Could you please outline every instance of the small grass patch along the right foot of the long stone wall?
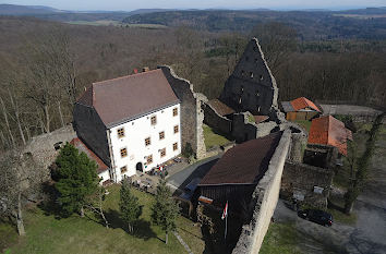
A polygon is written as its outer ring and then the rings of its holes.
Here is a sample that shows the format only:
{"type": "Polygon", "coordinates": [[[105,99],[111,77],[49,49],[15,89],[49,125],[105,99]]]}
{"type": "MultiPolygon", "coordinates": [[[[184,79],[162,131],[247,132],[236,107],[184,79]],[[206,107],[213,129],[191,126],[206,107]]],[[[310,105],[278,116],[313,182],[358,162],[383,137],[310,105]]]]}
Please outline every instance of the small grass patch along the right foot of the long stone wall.
{"type": "Polygon", "coordinates": [[[295,254],[298,233],[294,223],[270,223],[265,234],[260,254],[295,254]]]}

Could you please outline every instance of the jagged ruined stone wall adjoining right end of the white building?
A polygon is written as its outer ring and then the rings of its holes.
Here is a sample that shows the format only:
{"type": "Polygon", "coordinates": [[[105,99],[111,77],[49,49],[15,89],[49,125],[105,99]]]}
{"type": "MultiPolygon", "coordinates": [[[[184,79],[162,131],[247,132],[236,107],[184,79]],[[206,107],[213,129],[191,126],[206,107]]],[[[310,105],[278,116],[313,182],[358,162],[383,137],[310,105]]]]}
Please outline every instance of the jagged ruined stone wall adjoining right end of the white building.
{"type": "Polygon", "coordinates": [[[207,102],[207,98],[200,93],[194,93],[193,85],[176,75],[169,66],[159,66],[171,88],[181,101],[181,144],[182,149],[188,143],[192,145],[196,157],[205,157],[204,143],[204,109],[203,104],[207,102]]]}

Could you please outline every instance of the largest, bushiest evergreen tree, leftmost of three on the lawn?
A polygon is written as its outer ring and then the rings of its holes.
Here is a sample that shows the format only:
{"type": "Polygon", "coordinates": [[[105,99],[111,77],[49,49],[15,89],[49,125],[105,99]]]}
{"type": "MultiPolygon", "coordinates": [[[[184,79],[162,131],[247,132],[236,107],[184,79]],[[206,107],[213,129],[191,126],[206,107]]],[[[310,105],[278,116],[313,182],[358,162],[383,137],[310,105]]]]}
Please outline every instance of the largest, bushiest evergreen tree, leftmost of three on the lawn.
{"type": "Polygon", "coordinates": [[[97,165],[85,153],[67,143],[57,158],[55,188],[59,192],[59,204],[64,216],[80,211],[84,216],[86,197],[98,190],[97,165]]]}

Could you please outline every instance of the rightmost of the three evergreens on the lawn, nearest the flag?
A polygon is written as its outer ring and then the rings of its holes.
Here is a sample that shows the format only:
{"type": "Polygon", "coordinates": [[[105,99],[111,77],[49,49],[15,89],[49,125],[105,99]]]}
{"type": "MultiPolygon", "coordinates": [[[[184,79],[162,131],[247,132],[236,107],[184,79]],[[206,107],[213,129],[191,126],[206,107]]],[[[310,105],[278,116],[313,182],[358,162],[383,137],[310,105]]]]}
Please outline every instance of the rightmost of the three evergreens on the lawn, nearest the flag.
{"type": "Polygon", "coordinates": [[[157,186],[156,202],[152,207],[152,222],[165,230],[165,243],[168,244],[168,233],[176,229],[176,219],[179,207],[171,197],[171,191],[165,181],[160,181],[157,186]]]}

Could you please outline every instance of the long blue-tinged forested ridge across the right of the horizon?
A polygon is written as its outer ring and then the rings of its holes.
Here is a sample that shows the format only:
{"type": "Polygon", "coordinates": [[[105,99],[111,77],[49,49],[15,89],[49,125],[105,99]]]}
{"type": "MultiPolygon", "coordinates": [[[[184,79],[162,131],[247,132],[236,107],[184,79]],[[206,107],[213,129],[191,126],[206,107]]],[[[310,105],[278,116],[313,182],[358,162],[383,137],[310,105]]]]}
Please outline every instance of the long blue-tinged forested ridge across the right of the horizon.
{"type": "MultiPolygon", "coordinates": [[[[367,9],[366,9],[367,10],[367,9]]],[[[372,10],[375,11],[375,10],[372,10]]],[[[383,9],[378,10],[379,12],[383,9]]],[[[386,39],[386,19],[349,19],[333,11],[169,11],[130,15],[129,24],[188,25],[209,32],[244,32],[266,22],[293,27],[300,39],[386,39]]]]}

